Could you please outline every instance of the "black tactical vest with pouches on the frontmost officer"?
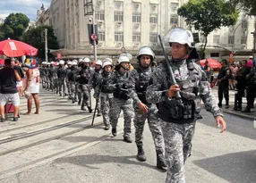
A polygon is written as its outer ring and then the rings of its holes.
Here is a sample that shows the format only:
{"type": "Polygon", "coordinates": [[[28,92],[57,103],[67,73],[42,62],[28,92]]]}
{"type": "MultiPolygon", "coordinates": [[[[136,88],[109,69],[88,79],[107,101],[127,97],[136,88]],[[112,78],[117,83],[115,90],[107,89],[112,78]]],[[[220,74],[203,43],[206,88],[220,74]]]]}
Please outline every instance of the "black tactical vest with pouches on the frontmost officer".
{"type": "MultiPolygon", "coordinates": [[[[164,62],[164,64],[166,64],[164,62]]],[[[197,81],[199,75],[194,73],[194,65],[190,60],[187,61],[188,79],[178,80],[177,85],[181,88],[181,100],[173,99],[171,101],[164,101],[157,104],[158,117],[163,121],[170,121],[175,123],[189,123],[195,121],[199,117],[200,106],[199,105],[199,87],[197,81]]],[[[175,67],[172,67],[175,72],[175,67]]],[[[166,71],[166,73],[168,73],[166,71]]],[[[162,90],[168,90],[172,85],[169,75],[166,76],[167,82],[162,86],[162,90]]]]}

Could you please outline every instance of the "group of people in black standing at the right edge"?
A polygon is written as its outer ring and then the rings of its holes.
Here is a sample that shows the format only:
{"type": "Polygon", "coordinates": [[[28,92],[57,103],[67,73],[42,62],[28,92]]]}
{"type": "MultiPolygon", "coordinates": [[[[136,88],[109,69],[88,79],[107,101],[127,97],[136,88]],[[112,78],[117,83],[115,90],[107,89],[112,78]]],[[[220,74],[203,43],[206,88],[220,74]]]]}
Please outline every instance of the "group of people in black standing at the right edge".
{"type": "Polygon", "coordinates": [[[209,66],[209,62],[205,62],[202,70],[206,72],[210,86],[213,87],[217,83],[218,86],[218,106],[222,107],[223,96],[226,101],[226,108],[229,108],[229,91],[235,90],[234,110],[241,112],[251,112],[254,108],[254,101],[256,97],[256,79],[254,77],[252,56],[249,60],[241,62],[228,62],[223,59],[222,67],[216,75],[213,76],[213,69],[209,66]],[[246,97],[247,104],[243,109],[243,97],[246,97]]]}

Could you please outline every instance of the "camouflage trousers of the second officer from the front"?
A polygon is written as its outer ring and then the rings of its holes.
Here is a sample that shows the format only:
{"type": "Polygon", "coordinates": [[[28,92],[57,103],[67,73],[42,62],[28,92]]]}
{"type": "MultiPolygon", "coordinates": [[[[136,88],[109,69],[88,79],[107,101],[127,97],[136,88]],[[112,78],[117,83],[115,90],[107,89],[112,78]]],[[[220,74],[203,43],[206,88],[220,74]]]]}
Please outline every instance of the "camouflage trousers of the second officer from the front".
{"type": "Polygon", "coordinates": [[[142,134],[144,131],[145,121],[148,120],[149,130],[152,134],[154,145],[156,150],[159,152],[164,152],[164,139],[162,134],[162,129],[160,126],[160,122],[158,117],[156,116],[156,112],[158,109],[156,107],[151,107],[149,112],[144,113],[138,108],[138,106],[134,107],[135,116],[133,119],[133,123],[135,126],[135,142],[137,146],[143,146],[142,143],[142,134]]]}

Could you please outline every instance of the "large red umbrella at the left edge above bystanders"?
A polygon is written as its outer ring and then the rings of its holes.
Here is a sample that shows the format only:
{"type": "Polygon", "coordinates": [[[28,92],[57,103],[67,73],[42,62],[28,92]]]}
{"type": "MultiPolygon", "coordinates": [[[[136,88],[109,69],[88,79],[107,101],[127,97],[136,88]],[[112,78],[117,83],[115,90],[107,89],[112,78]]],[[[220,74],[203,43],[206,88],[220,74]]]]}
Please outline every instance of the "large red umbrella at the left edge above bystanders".
{"type": "Polygon", "coordinates": [[[22,55],[35,56],[38,54],[38,49],[21,41],[15,41],[8,38],[0,42],[0,54],[9,57],[18,57],[22,55]]]}

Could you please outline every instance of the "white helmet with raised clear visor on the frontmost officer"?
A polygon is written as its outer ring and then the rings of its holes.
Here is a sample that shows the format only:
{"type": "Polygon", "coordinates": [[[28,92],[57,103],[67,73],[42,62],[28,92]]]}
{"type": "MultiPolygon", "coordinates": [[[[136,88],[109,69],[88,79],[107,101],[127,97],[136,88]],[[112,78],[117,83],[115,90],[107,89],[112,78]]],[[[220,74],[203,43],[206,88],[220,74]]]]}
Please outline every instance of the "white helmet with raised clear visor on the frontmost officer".
{"type": "Polygon", "coordinates": [[[192,32],[183,28],[174,28],[170,32],[169,43],[187,44],[192,47],[193,37],[192,32]]]}

